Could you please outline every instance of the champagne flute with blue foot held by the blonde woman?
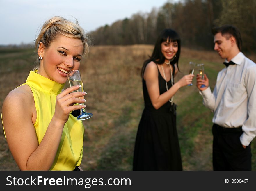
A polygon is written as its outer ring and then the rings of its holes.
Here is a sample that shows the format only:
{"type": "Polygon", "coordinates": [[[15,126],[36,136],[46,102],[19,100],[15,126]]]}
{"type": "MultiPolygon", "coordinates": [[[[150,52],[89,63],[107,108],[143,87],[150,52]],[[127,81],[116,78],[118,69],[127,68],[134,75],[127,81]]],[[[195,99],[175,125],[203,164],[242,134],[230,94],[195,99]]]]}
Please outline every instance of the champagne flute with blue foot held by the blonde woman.
{"type": "MultiPolygon", "coordinates": [[[[83,82],[80,75],[80,72],[78,70],[72,70],[69,73],[67,73],[67,78],[69,81],[70,87],[74,85],[80,85],[81,87],[73,92],[83,92],[83,82]]],[[[83,97],[80,97],[80,99],[83,99],[83,97]]],[[[84,105],[84,103],[77,103],[79,105],[84,105]]],[[[81,114],[77,117],[78,120],[85,120],[89,119],[93,116],[92,113],[87,113],[85,111],[85,108],[80,109],[81,114]]]]}

